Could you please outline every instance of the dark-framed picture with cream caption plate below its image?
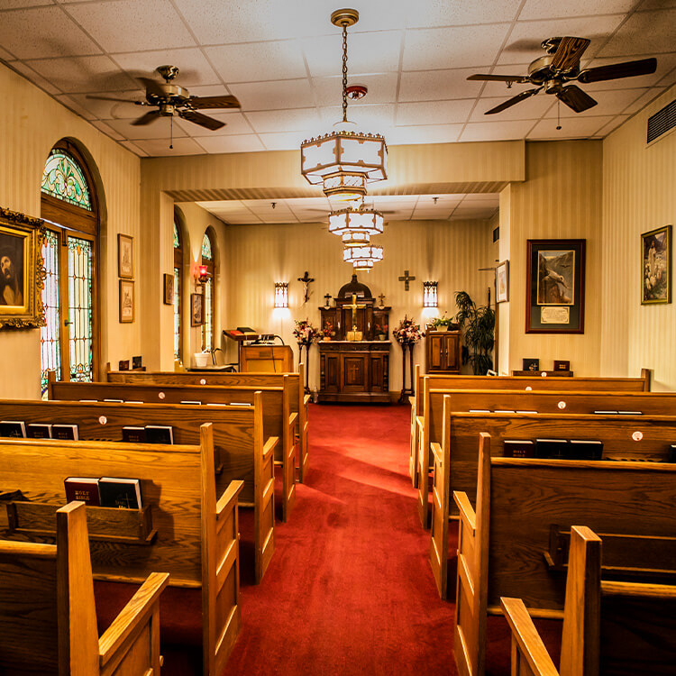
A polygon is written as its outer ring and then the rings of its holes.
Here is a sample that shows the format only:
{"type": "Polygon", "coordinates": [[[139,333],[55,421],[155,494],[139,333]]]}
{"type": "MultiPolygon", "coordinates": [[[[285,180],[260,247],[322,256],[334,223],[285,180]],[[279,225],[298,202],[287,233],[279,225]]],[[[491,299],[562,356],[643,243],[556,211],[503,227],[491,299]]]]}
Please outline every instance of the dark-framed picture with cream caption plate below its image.
{"type": "Polygon", "coordinates": [[[586,240],[528,240],[525,333],[584,333],[586,240]]]}

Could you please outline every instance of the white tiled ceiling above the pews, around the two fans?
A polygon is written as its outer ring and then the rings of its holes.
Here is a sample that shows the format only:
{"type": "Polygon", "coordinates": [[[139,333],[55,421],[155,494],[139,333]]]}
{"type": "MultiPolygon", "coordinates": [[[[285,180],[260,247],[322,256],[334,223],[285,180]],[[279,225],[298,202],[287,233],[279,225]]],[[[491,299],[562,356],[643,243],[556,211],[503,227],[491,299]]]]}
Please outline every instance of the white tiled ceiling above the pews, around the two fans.
{"type": "MultiPolygon", "coordinates": [[[[676,81],[676,0],[347,5],[361,14],[350,31],[350,81],[369,87],[350,105],[350,117],[383,133],[389,145],[601,138],[676,81]],[[529,86],[508,91],[467,76],[525,74],[544,54],[540,42],[554,35],[591,40],[583,67],[655,56],[657,72],[584,86],[598,105],[582,114],[562,105],[561,131],[554,99],[544,93],[486,117],[529,86]]],[[[340,115],[341,38],[329,21],[339,6],[339,0],[0,0],[0,59],[141,156],[297,150],[340,115]],[[217,132],[175,119],[170,151],[168,119],[133,127],[138,106],[87,99],[142,98],[134,78],[159,78],[152,71],[164,63],[181,69],[177,83],[192,95],[233,94],[242,111],[214,114],[227,122],[217,132]]],[[[255,215],[255,205],[234,206],[255,215]]],[[[292,205],[284,208],[295,213],[292,205]]],[[[418,206],[411,209],[415,215],[418,206]]]]}

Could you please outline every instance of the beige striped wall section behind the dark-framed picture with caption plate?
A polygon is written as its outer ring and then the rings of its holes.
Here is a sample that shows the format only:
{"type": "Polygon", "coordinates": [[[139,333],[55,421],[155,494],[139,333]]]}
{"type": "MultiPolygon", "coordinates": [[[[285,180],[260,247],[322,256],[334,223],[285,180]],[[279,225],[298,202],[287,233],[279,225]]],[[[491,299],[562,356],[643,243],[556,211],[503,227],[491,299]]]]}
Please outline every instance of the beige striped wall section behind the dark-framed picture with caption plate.
{"type": "Polygon", "coordinates": [[[509,260],[510,272],[509,302],[500,306],[500,340],[507,341],[499,349],[500,370],[521,369],[524,357],[537,357],[544,369],[555,359],[568,360],[576,373],[598,376],[601,142],[526,143],[525,168],[525,182],[512,183],[500,199],[500,260],[509,260]],[[580,238],[587,240],[584,333],[525,333],[526,240],[580,238]]]}

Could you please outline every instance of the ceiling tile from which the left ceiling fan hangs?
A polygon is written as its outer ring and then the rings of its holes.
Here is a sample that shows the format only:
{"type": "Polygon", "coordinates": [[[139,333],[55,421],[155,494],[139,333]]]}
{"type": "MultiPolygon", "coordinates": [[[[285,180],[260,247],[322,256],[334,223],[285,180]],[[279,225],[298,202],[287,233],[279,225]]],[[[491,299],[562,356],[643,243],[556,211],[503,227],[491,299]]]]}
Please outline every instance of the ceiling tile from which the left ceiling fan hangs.
{"type": "Polygon", "coordinates": [[[164,81],[155,71],[158,66],[165,63],[178,66],[179,72],[174,82],[180,87],[189,87],[193,96],[196,96],[193,86],[220,85],[218,76],[205,55],[193,47],[114,54],[112,58],[132,78],[150,78],[158,82],[164,81]]]}

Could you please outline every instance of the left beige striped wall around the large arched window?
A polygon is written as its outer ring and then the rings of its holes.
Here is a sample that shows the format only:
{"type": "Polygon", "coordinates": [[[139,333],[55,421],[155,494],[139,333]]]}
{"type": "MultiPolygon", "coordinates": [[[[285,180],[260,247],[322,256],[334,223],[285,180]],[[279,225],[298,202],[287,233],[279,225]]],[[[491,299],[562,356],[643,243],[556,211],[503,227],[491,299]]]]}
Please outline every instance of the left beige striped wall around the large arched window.
{"type": "MultiPolygon", "coordinates": [[[[131,359],[142,353],[140,323],[118,323],[117,233],[131,234],[136,245],[135,279],[139,279],[140,161],[95,127],[70,113],[12,70],[0,65],[0,206],[40,216],[40,185],[45,160],[54,143],[75,140],[91,156],[103,190],[101,242],[102,345],[105,360],[131,359]]],[[[0,370],[11,374],[0,383],[0,397],[40,395],[40,332],[0,333],[0,370]]]]}

